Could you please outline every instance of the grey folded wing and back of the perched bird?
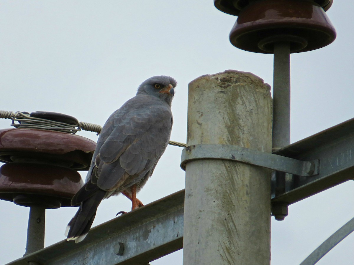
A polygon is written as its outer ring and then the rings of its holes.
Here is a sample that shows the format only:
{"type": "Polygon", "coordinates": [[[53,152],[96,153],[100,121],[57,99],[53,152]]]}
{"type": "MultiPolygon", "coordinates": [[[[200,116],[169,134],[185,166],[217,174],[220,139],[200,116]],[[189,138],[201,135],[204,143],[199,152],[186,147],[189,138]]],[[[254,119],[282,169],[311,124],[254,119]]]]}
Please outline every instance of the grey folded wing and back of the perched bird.
{"type": "Polygon", "coordinates": [[[108,119],[109,129],[104,131],[107,135],[103,135],[105,140],[101,140],[95,160],[98,188],[117,189],[130,183],[147,172],[164,152],[172,114],[166,104],[152,100],[133,98],[108,119]]]}

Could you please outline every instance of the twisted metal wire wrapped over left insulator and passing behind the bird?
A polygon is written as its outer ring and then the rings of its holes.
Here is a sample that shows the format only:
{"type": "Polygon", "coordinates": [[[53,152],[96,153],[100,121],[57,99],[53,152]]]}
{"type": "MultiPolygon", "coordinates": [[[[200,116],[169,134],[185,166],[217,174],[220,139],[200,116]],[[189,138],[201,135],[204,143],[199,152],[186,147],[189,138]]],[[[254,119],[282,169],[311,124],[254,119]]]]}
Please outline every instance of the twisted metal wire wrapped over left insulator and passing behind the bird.
{"type": "MultiPolygon", "coordinates": [[[[43,129],[43,130],[53,130],[62,131],[65,133],[75,134],[78,131],[92,131],[97,133],[101,132],[102,127],[98,124],[79,122],[78,124],[72,125],[64,122],[56,122],[54,120],[42,119],[37,117],[32,117],[28,113],[17,111],[2,111],[0,110],[0,118],[11,119],[11,126],[15,128],[31,128],[31,129],[43,129]],[[17,123],[15,123],[17,122],[17,123]]],[[[169,141],[169,145],[186,147],[185,143],[169,141]]]]}

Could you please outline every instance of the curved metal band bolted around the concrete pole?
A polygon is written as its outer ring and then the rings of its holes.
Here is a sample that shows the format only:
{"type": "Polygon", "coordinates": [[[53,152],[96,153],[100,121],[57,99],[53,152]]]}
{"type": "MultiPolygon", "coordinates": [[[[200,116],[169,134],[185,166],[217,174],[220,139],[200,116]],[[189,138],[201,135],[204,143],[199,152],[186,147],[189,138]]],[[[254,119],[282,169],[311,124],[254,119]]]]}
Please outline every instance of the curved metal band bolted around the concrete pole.
{"type": "Polygon", "coordinates": [[[182,151],[181,168],[197,159],[225,159],[266,167],[298,176],[318,175],[319,160],[301,161],[234,145],[192,145],[182,151]]]}

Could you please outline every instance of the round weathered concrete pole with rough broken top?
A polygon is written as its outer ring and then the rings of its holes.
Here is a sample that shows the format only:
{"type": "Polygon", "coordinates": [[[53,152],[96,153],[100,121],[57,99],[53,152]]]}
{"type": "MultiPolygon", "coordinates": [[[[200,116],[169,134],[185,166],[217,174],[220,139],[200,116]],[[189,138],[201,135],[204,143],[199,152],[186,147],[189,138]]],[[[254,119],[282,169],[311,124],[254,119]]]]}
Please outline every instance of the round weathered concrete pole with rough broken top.
{"type": "MultiPolygon", "coordinates": [[[[201,76],[189,83],[187,126],[187,146],[271,152],[270,86],[234,70],[201,76]]],[[[183,264],[269,264],[270,171],[205,159],[185,172],[183,264]]]]}

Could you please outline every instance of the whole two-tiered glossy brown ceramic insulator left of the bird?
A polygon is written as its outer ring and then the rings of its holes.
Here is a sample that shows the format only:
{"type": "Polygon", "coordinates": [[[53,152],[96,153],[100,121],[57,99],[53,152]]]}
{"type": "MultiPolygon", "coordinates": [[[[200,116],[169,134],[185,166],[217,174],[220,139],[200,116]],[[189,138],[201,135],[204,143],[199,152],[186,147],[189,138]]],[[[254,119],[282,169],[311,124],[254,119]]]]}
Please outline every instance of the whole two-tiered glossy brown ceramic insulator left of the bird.
{"type": "Polygon", "coordinates": [[[78,135],[39,129],[0,130],[0,199],[45,208],[70,206],[96,143],[78,135]]]}

